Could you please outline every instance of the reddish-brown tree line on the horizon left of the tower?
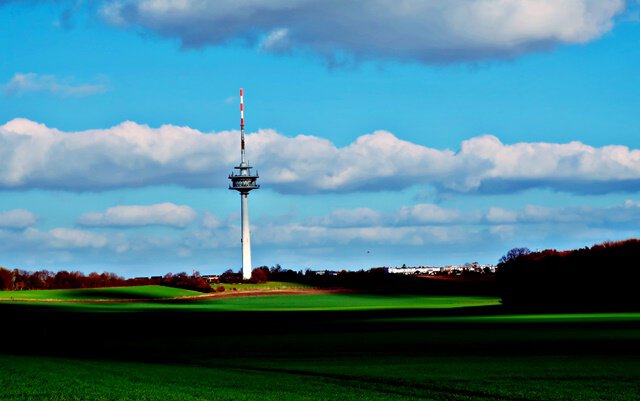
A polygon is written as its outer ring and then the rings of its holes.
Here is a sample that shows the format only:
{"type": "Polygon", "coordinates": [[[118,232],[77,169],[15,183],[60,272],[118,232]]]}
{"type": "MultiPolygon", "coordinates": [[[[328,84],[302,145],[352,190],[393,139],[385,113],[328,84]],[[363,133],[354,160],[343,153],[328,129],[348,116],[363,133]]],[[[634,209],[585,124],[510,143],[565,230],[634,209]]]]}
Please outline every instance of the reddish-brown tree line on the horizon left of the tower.
{"type": "Polygon", "coordinates": [[[167,273],[164,276],[125,279],[114,273],[84,274],[79,271],[26,271],[0,267],[0,290],[53,290],[104,288],[135,285],[165,285],[188,290],[210,292],[211,286],[198,272],[167,273]]]}

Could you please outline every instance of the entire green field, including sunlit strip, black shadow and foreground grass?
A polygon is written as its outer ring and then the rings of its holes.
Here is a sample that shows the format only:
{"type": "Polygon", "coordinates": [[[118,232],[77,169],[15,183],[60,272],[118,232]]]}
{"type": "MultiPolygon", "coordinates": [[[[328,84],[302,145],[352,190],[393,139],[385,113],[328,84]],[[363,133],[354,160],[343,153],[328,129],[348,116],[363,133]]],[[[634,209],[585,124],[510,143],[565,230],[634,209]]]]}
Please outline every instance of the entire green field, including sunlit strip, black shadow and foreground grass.
{"type": "Polygon", "coordinates": [[[142,304],[0,303],[0,400],[640,399],[640,313],[368,294],[142,304]]]}

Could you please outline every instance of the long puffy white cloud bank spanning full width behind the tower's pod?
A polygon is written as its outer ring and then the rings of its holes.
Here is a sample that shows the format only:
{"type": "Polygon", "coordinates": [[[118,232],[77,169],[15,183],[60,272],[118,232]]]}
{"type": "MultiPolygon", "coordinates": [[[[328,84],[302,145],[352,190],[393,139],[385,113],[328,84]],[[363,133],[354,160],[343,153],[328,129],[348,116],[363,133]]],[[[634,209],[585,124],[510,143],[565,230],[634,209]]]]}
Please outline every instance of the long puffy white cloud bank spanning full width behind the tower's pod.
{"type": "MultiPolygon", "coordinates": [[[[0,188],[224,188],[226,176],[238,163],[238,137],[237,131],[202,133],[188,127],[150,128],[133,122],[102,130],[62,132],[15,119],[0,126],[0,158],[4,161],[0,188]]],[[[469,194],[529,188],[580,194],[640,189],[640,150],[618,145],[504,144],[495,136],[484,135],[452,151],[376,131],[337,147],[323,138],[290,138],[273,130],[252,133],[247,142],[251,161],[260,167],[261,184],[282,193],[382,191],[415,185],[469,194]]]]}

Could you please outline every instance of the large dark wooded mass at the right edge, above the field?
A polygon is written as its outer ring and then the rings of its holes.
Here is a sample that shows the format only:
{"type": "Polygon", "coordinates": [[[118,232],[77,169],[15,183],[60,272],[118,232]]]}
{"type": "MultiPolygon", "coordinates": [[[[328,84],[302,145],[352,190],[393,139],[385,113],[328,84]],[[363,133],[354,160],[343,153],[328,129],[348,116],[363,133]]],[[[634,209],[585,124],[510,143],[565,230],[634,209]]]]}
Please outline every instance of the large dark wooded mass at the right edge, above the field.
{"type": "Polygon", "coordinates": [[[526,308],[640,307],[640,240],[569,251],[516,248],[498,264],[504,305],[526,308]]]}

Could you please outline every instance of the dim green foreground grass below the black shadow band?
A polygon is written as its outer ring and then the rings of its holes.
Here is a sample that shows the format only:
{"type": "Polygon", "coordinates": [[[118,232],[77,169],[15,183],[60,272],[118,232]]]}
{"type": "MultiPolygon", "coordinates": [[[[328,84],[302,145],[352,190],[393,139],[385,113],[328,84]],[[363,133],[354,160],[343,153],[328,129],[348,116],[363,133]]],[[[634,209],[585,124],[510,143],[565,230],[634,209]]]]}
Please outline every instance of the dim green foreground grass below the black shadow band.
{"type": "Polygon", "coordinates": [[[0,365],[2,400],[637,400],[640,391],[630,357],[190,365],[0,355],[0,365]]]}

